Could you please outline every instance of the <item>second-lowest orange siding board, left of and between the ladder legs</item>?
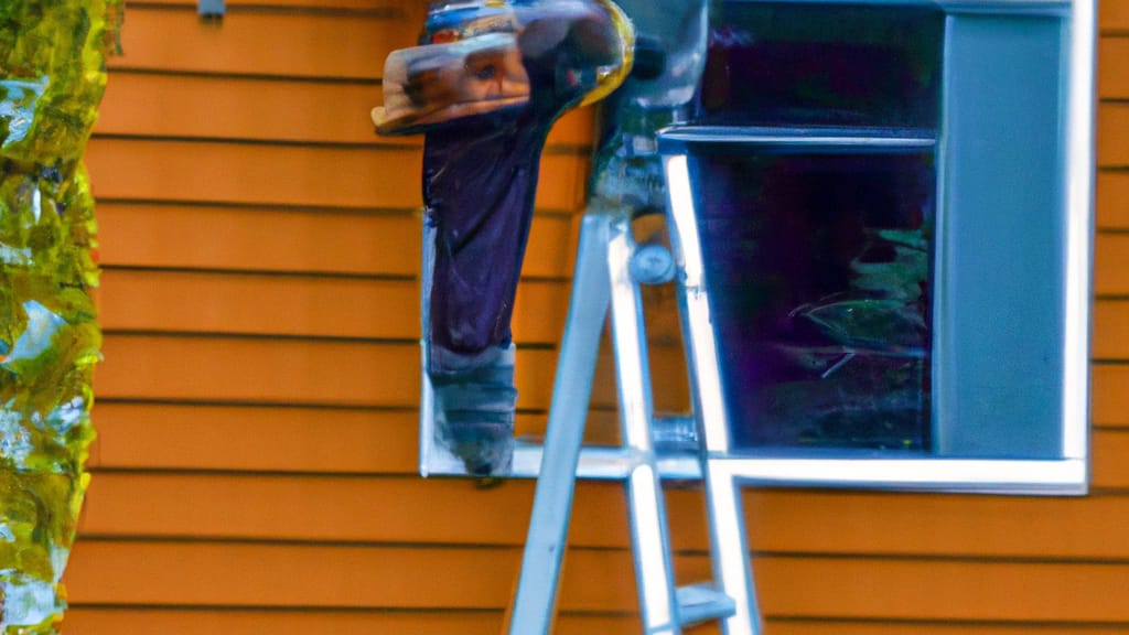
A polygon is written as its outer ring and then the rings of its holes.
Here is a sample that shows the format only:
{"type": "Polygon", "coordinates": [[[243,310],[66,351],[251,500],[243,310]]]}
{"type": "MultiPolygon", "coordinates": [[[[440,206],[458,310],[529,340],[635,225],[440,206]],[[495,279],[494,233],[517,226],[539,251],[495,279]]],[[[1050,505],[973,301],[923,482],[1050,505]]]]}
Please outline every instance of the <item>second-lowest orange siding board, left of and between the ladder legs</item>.
{"type": "MultiPolygon", "coordinates": [[[[501,609],[519,560],[516,547],[80,539],[64,582],[77,604],[501,609]]],[[[681,564],[700,573],[707,558],[689,557],[681,564]]],[[[619,611],[634,604],[629,553],[569,555],[561,609],[619,611]]]]}

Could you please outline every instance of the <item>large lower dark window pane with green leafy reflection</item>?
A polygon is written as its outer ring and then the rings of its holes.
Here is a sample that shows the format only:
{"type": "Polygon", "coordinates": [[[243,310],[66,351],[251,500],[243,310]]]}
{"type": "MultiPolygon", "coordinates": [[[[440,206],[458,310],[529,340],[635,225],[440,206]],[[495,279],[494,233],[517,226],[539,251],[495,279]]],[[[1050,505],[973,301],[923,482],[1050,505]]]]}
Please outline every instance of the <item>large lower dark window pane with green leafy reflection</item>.
{"type": "Polygon", "coordinates": [[[928,450],[931,153],[691,165],[736,445],[928,450]]]}

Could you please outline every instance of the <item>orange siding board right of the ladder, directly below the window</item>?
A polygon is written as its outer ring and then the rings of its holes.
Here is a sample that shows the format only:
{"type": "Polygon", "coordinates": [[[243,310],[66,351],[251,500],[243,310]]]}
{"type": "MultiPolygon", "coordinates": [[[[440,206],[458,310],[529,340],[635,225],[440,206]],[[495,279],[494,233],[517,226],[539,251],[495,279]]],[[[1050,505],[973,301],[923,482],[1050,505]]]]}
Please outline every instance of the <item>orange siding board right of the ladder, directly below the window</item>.
{"type": "Polygon", "coordinates": [[[746,492],[754,550],[905,559],[1123,560],[1126,499],[746,492]]]}

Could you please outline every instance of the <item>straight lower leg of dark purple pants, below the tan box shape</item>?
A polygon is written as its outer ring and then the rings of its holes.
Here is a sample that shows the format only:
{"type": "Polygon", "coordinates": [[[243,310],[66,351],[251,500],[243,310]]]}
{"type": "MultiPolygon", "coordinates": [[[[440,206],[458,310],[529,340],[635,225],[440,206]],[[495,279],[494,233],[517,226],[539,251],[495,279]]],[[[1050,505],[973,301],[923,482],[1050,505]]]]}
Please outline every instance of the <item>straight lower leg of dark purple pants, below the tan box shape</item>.
{"type": "Polygon", "coordinates": [[[528,112],[427,134],[423,197],[435,228],[428,371],[450,374],[508,346],[533,218],[544,125],[528,112]]]}

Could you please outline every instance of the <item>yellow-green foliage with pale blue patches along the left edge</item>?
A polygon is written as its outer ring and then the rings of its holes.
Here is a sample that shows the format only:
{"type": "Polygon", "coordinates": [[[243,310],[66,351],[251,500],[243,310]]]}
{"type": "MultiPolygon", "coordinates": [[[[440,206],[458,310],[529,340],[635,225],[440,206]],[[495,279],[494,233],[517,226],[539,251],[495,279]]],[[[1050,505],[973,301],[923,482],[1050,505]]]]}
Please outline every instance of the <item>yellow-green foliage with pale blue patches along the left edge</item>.
{"type": "Polygon", "coordinates": [[[120,0],[0,2],[0,628],[55,633],[102,333],[81,158],[120,0]]]}

